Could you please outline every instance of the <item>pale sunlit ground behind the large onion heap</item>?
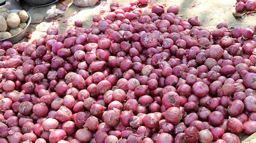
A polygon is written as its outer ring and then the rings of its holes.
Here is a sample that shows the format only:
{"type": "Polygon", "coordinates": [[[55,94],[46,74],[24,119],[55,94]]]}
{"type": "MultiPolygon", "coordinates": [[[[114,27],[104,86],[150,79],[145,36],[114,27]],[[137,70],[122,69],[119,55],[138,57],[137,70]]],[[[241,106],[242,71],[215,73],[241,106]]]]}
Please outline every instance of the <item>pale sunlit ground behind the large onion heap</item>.
{"type": "MultiPolygon", "coordinates": [[[[45,34],[46,29],[51,25],[59,27],[59,33],[64,33],[69,27],[73,27],[75,20],[82,20],[84,27],[90,27],[92,24],[92,17],[99,14],[100,10],[109,10],[109,4],[111,2],[127,4],[132,1],[107,0],[100,2],[100,4],[96,6],[88,8],[79,8],[73,5],[71,0],[59,3],[57,4],[57,8],[68,8],[65,10],[65,13],[57,16],[56,18],[44,20],[39,24],[31,24],[29,31],[32,35],[30,35],[31,39],[29,41],[37,39],[41,35],[45,34]]],[[[180,7],[178,16],[182,16],[184,18],[198,16],[200,23],[202,23],[208,30],[214,30],[216,25],[220,22],[227,22],[229,27],[246,27],[256,24],[256,16],[253,15],[242,16],[239,20],[234,18],[233,12],[235,11],[235,0],[151,0],[151,2],[164,4],[167,8],[173,4],[178,5],[180,7]]],[[[26,9],[29,9],[28,6],[25,7],[26,9]]],[[[33,14],[42,17],[50,7],[51,6],[46,8],[37,8],[32,12],[33,14]]],[[[37,16],[34,16],[33,18],[36,17],[37,16]]]]}

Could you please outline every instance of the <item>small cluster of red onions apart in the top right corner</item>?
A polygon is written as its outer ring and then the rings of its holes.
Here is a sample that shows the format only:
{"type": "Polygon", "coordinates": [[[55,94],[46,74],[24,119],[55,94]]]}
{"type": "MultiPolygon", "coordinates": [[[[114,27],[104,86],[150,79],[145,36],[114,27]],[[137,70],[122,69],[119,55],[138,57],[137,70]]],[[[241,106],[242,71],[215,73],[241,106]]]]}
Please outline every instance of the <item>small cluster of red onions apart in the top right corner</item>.
{"type": "Polygon", "coordinates": [[[235,11],[239,13],[254,10],[256,10],[255,0],[237,0],[237,3],[235,4],[235,11]]]}

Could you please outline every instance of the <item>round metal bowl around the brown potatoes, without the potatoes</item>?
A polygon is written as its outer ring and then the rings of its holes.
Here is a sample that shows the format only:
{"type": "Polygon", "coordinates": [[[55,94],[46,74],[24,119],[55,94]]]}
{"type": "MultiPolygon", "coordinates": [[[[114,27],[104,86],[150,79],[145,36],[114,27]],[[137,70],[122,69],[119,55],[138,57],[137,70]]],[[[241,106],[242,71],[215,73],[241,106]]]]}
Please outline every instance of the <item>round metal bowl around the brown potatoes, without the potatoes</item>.
{"type": "MultiPolygon", "coordinates": [[[[10,13],[14,13],[14,12],[18,13],[21,10],[9,10],[9,11],[10,11],[10,13]]],[[[28,15],[29,15],[29,13],[28,13],[28,15]]],[[[12,44],[16,44],[18,41],[21,41],[26,35],[26,31],[28,30],[30,22],[31,22],[31,16],[29,15],[29,19],[26,22],[26,27],[21,32],[17,33],[16,35],[13,35],[12,37],[1,39],[0,41],[10,41],[12,44]]]]}

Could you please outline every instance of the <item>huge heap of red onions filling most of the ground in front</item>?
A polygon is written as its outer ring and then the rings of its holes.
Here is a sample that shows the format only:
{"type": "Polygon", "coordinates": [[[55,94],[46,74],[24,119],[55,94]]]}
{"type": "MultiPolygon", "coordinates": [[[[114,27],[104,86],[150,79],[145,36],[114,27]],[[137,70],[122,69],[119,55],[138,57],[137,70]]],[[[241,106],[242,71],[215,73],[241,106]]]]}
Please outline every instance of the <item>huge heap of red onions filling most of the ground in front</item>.
{"type": "Polygon", "coordinates": [[[212,32],[147,0],[0,45],[0,142],[240,142],[256,132],[256,26],[212,32]]]}

